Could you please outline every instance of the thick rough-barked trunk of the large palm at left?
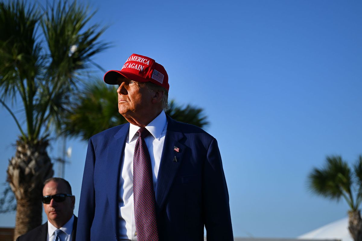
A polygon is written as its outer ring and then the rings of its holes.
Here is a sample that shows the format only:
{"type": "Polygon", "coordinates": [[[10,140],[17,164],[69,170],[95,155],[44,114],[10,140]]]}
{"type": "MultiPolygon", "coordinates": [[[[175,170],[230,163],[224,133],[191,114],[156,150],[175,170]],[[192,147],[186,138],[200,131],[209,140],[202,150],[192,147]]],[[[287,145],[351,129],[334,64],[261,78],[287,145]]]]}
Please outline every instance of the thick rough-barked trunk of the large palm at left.
{"type": "Polygon", "coordinates": [[[54,173],[47,146],[46,138],[35,143],[19,139],[9,161],[8,182],[17,200],[14,240],[42,222],[43,183],[54,173]]]}

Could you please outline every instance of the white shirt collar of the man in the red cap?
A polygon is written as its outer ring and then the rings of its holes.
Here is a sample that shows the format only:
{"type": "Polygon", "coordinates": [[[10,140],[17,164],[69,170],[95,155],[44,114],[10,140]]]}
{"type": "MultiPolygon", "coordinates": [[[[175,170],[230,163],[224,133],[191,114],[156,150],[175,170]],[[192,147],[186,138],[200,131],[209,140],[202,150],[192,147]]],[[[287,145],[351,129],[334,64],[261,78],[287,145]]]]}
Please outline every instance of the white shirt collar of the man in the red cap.
{"type": "MultiPolygon", "coordinates": [[[[162,131],[165,128],[166,124],[167,124],[166,114],[164,111],[161,111],[160,115],[158,115],[155,119],[153,119],[153,121],[150,122],[150,124],[146,126],[146,129],[151,133],[151,135],[153,135],[155,139],[160,140],[162,131]]],[[[135,134],[138,130],[139,126],[130,123],[128,143],[130,143],[134,139],[135,134]]]]}

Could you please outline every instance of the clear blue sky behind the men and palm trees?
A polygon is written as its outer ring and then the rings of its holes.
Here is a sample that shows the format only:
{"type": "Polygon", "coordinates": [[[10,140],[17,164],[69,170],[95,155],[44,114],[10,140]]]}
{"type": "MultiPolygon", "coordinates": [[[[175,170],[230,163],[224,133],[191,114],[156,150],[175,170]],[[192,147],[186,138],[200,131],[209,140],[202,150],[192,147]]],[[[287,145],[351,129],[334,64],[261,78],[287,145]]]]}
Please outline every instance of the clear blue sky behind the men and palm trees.
{"type": "MultiPolygon", "coordinates": [[[[89,4],[98,8],[94,22],[110,25],[103,38],[114,44],[98,64],[120,69],[132,53],[152,57],[168,72],[171,99],[205,109],[235,236],[296,237],[347,215],[344,202],[312,195],[306,177],[326,155],[354,163],[362,154],[361,1],[89,4]]],[[[3,107],[0,115],[4,182],[18,131],[3,107]]],[[[79,200],[87,143],[68,144],[65,177],[79,200]]],[[[58,155],[58,147],[49,153],[58,155]]],[[[0,215],[0,226],[13,226],[14,216],[0,215]]]]}

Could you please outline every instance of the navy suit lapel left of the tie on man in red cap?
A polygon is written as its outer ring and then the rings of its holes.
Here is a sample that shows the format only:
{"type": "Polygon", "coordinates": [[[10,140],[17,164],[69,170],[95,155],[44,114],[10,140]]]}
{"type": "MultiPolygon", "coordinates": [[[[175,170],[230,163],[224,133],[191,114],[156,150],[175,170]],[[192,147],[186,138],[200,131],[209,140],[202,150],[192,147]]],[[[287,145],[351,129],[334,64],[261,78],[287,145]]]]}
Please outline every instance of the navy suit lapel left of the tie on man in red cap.
{"type": "Polygon", "coordinates": [[[105,173],[107,178],[107,195],[109,206],[113,208],[111,220],[116,231],[118,231],[118,184],[120,167],[129,128],[130,124],[127,123],[119,129],[110,141],[107,153],[107,169],[105,173]]]}

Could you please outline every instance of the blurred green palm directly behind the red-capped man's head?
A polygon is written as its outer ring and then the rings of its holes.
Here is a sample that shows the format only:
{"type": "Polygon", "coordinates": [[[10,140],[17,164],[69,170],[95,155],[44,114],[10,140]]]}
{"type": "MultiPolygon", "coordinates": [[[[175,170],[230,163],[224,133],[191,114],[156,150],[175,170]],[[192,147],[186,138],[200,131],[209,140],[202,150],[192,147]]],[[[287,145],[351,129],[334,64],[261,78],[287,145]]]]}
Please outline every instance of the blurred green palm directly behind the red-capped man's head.
{"type": "MultiPolygon", "coordinates": [[[[78,102],[64,118],[66,135],[80,136],[88,141],[92,135],[116,125],[127,123],[118,113],[117,87],[106,85],[103,81],[95,81],[86,87],[77,97],[78,102]]],[[[171,109],[166,113],[173,119],[205,127],[209,124],[203,109],[187,105],[177,106],[171,101],[171,109]]]]}

